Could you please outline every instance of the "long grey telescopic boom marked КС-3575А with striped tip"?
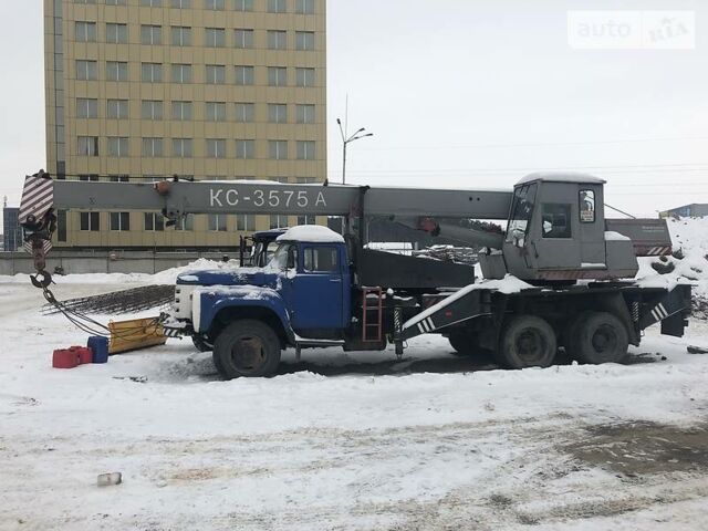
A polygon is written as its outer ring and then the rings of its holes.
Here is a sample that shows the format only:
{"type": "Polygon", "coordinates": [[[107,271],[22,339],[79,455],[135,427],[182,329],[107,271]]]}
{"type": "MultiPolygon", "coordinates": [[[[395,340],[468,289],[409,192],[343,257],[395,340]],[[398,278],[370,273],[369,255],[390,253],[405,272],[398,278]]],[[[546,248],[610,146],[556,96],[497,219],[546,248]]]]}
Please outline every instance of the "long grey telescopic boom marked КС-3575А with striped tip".
{"type": "Polygon", "coordinates": [[[25,178],[19,221],[25,230],[25,248],[35,253],[38,271],[43,271],[40,250],[46,252],[51,247],[49,242],[56,210],[162,211],[170,220],[188,214],[236,212],[393,219],[506,219],[511,199],[510,191],[270,181],[73,181],[54,180],[49,174],[40,171],[25,178]]]}

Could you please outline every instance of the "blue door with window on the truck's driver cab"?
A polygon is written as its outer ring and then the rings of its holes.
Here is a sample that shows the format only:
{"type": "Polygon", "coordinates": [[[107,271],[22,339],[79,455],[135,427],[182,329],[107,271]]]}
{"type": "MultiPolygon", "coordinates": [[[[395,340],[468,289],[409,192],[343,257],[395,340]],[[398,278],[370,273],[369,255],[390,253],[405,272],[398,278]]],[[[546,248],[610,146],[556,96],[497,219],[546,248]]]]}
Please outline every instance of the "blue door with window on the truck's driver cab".
{"type": "Polygon", "coordinates": [[[292,323],[295,330],[345,327],[348,267],[342,246],[303,243],[298,274],[292,279],[292,323]]]}

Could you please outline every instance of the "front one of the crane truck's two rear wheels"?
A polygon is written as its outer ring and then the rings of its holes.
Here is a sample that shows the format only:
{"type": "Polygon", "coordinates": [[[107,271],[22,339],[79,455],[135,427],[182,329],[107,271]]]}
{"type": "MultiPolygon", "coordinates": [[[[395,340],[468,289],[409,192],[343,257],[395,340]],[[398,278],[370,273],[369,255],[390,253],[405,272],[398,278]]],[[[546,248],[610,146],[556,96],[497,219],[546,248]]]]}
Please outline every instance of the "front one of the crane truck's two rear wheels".
{"type": "Polygon", "coordinates": [[[548,367],[556,351],[555,332],[548,322],[535,315],[517,315],[501,332],[497,356],[509,368],[548,367]]]}

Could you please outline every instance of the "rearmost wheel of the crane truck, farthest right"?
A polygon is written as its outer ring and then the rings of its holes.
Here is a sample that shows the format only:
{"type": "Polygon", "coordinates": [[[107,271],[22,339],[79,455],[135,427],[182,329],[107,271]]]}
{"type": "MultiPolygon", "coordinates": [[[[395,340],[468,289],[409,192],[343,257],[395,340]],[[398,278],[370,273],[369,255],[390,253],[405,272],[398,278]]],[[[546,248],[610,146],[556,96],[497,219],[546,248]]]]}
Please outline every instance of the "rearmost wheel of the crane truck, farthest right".
{"type": "Polygon", "coordinates": [[[607,312],[581,314],[572,327],[570,353],[583,363],[620,363],[627,356],[629,334],[618,317],[607,312]]]}

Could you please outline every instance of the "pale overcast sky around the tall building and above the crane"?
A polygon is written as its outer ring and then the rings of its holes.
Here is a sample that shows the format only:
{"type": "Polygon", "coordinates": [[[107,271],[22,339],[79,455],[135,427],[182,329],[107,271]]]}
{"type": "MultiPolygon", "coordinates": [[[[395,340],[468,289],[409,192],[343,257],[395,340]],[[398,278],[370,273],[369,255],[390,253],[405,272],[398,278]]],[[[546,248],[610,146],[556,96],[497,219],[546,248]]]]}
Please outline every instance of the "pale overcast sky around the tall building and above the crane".
{"type": "MultiPolygon", "coordinates": [[[[0,196],[45,165],[42,1],[2,2],[0,196]]],[[[329,174],[347,183],[511,188],[591,171],[635,215],[708,202],[705,0],[330,0],[329,174]],[[568,11],[693,10],[695,50],[576,50],[568,11]]],[[[690,30],[694,32],[694,30],[690,30]]]]}

